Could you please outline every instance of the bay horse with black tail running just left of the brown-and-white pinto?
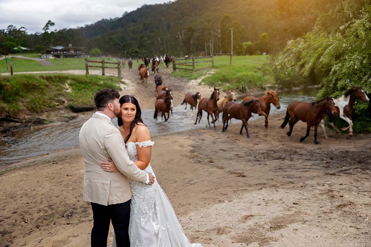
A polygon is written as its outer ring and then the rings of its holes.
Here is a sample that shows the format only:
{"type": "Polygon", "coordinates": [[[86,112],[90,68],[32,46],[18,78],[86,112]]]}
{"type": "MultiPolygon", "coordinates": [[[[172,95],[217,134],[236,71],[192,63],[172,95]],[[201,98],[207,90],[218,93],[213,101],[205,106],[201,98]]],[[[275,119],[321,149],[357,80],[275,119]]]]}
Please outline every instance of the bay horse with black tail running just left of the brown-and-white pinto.
{"type": "Polygon", "coordinates": [[[334,101],[331,97],[326,96],[325,99],[313,103],[295,101],[287,107],[286,117],[280,128],[285,128],[286,124],[289,123],[290,130],[287,132],[287,135],[291,136],[294,125],[299,120],[302,120],[306,122],[306,135],[300,138],[300,142],[309,136],[309,131],[314,126],[314,143],[321,144],[317,141],[317,128],[324,117],[325,111],[329,111],[331,114],[337,114],[334,101]]]}

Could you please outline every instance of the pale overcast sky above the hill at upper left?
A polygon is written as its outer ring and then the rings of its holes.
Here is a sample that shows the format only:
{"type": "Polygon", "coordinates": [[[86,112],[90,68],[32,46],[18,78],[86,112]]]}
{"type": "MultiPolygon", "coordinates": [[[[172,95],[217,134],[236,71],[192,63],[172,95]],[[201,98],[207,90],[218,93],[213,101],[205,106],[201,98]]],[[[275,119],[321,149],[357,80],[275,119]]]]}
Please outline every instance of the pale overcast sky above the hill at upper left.
{"type": "Polygon", "coordinates": [[[27,33],[42,32],[48,20],[54,29],[74,28],[101,19],[121,17],[143,4],[164,0],[0,0],[0,29],[26,27],[27,33]]]}

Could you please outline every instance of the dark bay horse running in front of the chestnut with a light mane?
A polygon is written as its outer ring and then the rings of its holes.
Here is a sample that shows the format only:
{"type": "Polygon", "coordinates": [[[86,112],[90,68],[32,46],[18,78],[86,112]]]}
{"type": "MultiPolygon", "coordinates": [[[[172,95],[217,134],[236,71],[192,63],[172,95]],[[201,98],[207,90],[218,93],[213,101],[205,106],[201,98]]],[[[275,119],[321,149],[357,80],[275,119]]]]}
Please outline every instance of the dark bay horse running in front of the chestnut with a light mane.
{"type": "Polygon", "coordinates": [[[250,138],[249,131],[247,131],[247,121],[249,121],[253,111],[256,111],[259,116],[262,116],[263,111],[260,107],[259,100],[248,100],[241,103],[227,102],[223,108],[223,130],[228,128],[229,119],[239,119],[242,120],[242,126],[240,130],[240,135],[242,136],[243,127],[246,130],[247,138],[250,138]],[[227,122],[227,125],[225,126],[227,122]],[[225,126],[225,127],[224,127],[225,126]]]}

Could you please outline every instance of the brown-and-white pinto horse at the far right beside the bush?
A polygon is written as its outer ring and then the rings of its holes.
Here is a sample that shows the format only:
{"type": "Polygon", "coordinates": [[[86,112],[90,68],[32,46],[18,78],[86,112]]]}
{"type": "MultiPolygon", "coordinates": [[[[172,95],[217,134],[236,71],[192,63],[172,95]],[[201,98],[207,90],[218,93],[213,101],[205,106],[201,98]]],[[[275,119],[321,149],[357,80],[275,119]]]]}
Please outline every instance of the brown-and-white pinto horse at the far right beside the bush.
{"type": "MultiPolygon", "coordinates": [[[[363,102],[368,102],[368,99],[365,92],[360,87],[352,87],[351,89],[347,90],[345,94],[343,94],[338,99],[334,99],[336,111],[341,119],[344,119],[349,124],[348,127],[341,128],[341,130],[345,131],[349,128],[349,136],[353,136],[353,121],[352,121],[352,111],[353,105],[355,100],[362,100],[363,102]]],[[[336,133],[339,133],[339,129],[334,125],[335,117],[330,114],[328,111],[325,112],[326,115],[329,116],[329,125],[335,129],[336,133]]],[[[325,138],[327,139],[328,136],[325,130],[325,121],[324,119],[321,120],[321,127],[324,130],[325,138]]]]}

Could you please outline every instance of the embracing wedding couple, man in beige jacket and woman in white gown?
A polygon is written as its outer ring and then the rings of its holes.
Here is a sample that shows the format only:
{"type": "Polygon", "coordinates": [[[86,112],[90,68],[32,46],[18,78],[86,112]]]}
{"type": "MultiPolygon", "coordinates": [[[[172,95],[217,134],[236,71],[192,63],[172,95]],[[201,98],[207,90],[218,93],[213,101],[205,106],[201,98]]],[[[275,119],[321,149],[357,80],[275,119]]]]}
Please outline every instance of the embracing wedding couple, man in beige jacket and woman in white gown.
{"type": "Polygon", "coordinates": [[[91,203],[92,247],[201,247],[191,244],[150,165],[154,142],[137,99],[115,89],[94,96],[96,113],[81,127],[83,200],[91,203]],[[111,122],[118,118],[119,127],[111,122]]]}

